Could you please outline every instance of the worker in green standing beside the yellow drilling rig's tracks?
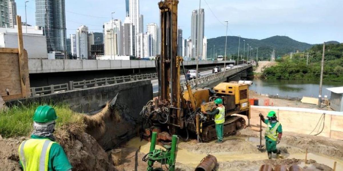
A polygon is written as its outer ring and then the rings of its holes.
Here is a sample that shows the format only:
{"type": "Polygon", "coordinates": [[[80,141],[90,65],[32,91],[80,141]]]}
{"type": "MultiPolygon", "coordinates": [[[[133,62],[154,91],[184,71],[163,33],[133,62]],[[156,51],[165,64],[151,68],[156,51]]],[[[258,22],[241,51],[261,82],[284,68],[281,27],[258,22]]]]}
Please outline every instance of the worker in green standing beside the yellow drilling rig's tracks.
{"type": "Polygon", "coordinates": [[[225,122],[225,107],[223,106],[223,100],[221,98],[217,98],[214,103],[217,108],[212,110],[210,113],[205,111],[204,114],[214,115],[215,130],[218,139],[216,143],[222,143],[225,122]]]}

